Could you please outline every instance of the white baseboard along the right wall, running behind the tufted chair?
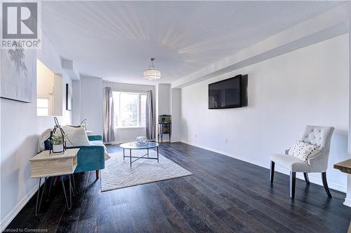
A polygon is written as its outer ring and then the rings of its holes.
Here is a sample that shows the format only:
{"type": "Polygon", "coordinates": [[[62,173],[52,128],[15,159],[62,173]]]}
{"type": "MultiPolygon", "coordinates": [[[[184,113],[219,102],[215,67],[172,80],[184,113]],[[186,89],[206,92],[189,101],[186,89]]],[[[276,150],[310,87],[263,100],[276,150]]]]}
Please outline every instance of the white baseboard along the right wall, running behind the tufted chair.
{"type": "MultiPolygon", "coordinates": [[[[196,143],[189,143],[187,141],[182,141],[182,142],[186,143],[186,144],[189,144],[189,145],[192,145],[192,146],[197,146],[199,148],[204,148],[205,150],[211,150],[213,152],[220,153],[222,155],[226,155],[226,156],[229,156],[229,157],[234,157],[237,160],[241,160],[241,161],[244,161],[244,162],[249,162],[251,164],[254,164],[254,165],[257,165],[257,166],[260,166],[260,167],[265,167],[266,169],[270,169],[270,164],[269,163],[260,162],[258,160],[248,159],[246,157],[241,157],[241,156],[238,156],[238,155],[232,155],[232,154],[227,153],[225,151],[216,150],[216,149],[210,148],[208,146],[202,146],[202,145],[199,145],[199,144],[196,144],[196,143]]],[[[275,171],[280,172],[282,174],[290,175],[289,169],[286,169],[284,167],[279,167],[278,164],[275,167],[275,171]]],[[[303,177],[302,173],[297,173],[296,174],[296,178],[299,178],[299,179],[305,181],[305,178],[303,177]]],[[[322,178],[315,178],[313,176],[310,176],[309,178],[310,178],[310,182],[311,183],[315,183],[317,185],[323,185],[322,178]]],[[[329,185],[329,188],[331,188],[333,190],[338,190],[340,192],[345,192],[346,193],[347,188],[344,185],[339,185],[338,183],[334,183],[334,182],[330,182],[330,181],[328,182],[328,185],[329,185]]],[[[346,202],[346,200],[345,200],[345,202],[346,202]]],[[[345,202],[344,202],[344,204],[345,204],[345,202]]],[[[350,199],[349,203],[350,203],[350,206],[351,206],[351,199],[350,199]]],[[[347,204],[345,204],[345,205],[347,205],[347,204]]]]}

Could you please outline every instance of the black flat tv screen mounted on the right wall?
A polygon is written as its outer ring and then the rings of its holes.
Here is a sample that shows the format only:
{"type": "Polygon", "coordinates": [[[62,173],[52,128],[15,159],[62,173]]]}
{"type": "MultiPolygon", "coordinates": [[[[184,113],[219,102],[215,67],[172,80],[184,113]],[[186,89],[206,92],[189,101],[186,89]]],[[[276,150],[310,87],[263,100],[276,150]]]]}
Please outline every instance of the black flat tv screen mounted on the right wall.
{"type": "Polygon", "coordinates": [[[208,85],[208,109],[241,107],[241,75],[208,85]]]}

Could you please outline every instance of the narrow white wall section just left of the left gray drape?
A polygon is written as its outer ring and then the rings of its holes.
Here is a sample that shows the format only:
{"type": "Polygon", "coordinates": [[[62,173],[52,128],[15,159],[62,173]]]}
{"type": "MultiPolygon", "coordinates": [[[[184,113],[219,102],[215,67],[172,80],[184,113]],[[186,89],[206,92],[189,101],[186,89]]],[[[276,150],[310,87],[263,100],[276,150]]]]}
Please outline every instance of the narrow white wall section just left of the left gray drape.
{"type": "Polygon", "coordinates": [[[87,129],[102,135],[102,78],[81,77],[81,120],[87,129]]]}

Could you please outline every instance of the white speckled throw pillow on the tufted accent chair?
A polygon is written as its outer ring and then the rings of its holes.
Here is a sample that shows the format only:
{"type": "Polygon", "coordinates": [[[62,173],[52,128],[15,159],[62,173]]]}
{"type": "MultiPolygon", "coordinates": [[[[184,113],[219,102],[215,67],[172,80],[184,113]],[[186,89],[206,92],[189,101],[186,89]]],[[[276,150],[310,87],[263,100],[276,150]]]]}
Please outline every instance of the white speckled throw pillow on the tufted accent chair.
{"type": "Polygon", "coordinates": [[[305,141],[296,141],[296,143],[291,146],[288,154],[307,162],[308,159],[319,153],[321,150],[322,148],[320,146],[312,145],[305,141]]]}

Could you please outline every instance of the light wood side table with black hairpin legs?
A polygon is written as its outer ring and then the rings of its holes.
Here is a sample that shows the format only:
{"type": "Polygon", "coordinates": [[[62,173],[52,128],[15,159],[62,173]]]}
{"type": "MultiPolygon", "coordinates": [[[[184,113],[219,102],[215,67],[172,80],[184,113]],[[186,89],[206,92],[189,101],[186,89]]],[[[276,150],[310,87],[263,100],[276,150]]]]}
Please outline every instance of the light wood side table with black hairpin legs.
{"type": "MultiPolygon", "coordinates": [[[[41,199],[43,198],[45,189],[46,189],[46,180],[48,177],[52,176],[61,176],[62,189],[65,194],[67,209],[70,210],[72,208],[72,192],[74,191],[74,178],[73,186],[71,183],[71,176],[73,176],[74,170],[76,169],[77,163],[77,154],[79,148],[67,149],[64,154],[55,154],[49,153],[48,150],[44,150],[38,155],[32,157],[30,162],[31,167],[31,178],[39,178],[39,188],[37,193],[37,204],[35,206],[35,214],[39,213],[41,199]],[[69,204],[65,190],[65,183],[63,183],[63,176],[69,176],[69,204]],[[44,182],[44,190],[41,190],[41,178],[45,178],[44,182]],[[41,198],[39,202],[39,196],[41,192],[41,198]]],[[[51,185],[49,187],[48,195],[50,195],[51,185]]]]}

